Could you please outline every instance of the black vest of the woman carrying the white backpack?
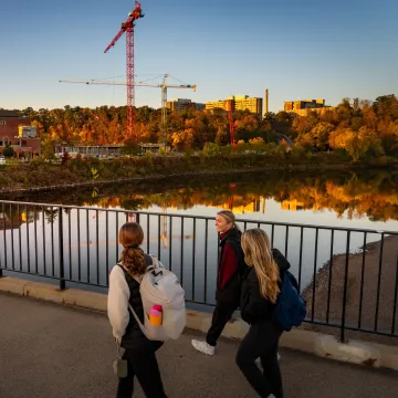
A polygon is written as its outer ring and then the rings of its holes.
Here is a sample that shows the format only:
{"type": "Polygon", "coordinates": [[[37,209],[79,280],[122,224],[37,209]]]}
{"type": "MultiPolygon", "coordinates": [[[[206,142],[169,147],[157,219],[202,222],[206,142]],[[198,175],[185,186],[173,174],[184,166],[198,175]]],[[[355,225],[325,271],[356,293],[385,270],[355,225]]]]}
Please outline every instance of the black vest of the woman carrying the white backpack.
{"type": "MultiPolygon", "coordinates": [[[[146,265],[150,265],[153,263],[151,256],[145,254],[145,263],[146,265]]],[[[144,307],[143,301],[139,293],[139,283],[123,268],[126,282],[130,292],[129,296],[129,304],[134,308],[135,313],[137,314],[139,321],[144,324],[144,307]]],[[[122,338],[122,347],[124,348],[136,348],[139,345],[145,344],[148,339],[145,337],[144,333],[142,332],[137,321],[135,320],[132,311],[128,308],[129,313],[129,322],[126,327],[126,332],[122,338]]]]}

